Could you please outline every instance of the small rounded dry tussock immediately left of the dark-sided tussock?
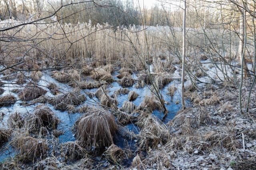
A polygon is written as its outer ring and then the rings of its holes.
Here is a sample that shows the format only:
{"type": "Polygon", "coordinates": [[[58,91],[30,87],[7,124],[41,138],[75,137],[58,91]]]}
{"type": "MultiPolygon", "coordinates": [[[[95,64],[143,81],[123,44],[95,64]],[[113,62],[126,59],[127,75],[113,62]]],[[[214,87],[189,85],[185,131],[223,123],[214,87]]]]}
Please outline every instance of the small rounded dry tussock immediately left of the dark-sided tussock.
{"type": "Polygon", "coordinates": [[[19,112],[12,113],[8,118],[8,127],[10,128],[22,128],[24,125],[24,117],[19,112]]]}

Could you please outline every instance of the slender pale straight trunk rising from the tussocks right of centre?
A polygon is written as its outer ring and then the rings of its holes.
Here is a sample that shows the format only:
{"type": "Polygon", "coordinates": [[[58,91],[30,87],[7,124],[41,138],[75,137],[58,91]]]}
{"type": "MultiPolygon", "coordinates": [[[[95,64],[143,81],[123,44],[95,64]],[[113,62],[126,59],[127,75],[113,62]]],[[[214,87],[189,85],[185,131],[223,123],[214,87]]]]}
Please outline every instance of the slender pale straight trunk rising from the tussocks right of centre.
{"type": "Polygon", "coordinates": [[[185,81],[185,61],[186,61],[186,0],[184,0],[184,13],[183,13],[183,44],[182,44],[182,108],[185,108],[185,99],[184,99],[184,81],[185,81]]]}

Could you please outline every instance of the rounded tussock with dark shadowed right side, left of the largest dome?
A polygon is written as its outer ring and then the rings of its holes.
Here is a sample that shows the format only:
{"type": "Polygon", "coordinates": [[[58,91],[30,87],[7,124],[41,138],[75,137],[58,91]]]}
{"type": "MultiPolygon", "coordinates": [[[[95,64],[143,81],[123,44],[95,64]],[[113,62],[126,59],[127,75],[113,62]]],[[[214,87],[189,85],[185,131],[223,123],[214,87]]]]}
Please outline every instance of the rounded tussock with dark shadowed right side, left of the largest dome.
{"type": "Polygon", "coordinates": [[[32,114],[26,117],[25,123],[29,131],[38,133],[45,129],[56,129],[59,122],[60,120],[49,107],[39,105],[32,114]]]}

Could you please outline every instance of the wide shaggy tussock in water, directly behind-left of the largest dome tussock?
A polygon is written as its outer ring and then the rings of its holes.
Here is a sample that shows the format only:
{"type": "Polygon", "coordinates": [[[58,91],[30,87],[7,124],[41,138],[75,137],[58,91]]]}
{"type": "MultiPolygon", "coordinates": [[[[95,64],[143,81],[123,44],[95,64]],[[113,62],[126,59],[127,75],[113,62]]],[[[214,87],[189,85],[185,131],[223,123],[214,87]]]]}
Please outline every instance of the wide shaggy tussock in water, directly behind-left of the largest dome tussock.
{"type": "Polygon", "coordinates": [[[74,89],[72,92],[67,92],[65,94],[58,94],[54,96],[50,100],[50,104],[52,104],[56,109],[66,110],[71,108],[72,106],[78,106],[82,102],[86,100],[86,96],[81,94],[80,89],[74,89]]]}

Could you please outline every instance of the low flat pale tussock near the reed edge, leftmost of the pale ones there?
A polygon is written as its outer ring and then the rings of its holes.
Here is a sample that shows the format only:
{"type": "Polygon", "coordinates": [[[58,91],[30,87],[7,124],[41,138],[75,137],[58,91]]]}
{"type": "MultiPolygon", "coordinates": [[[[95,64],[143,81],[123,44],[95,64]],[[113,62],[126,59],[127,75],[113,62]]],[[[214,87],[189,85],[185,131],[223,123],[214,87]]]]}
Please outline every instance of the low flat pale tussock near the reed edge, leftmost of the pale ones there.
{"type": "Polygon", "coordinates": [[[62,83],[72,83],[80,80],[80,73],[77,70],[52,71],[52,77],[62,83]]]}

